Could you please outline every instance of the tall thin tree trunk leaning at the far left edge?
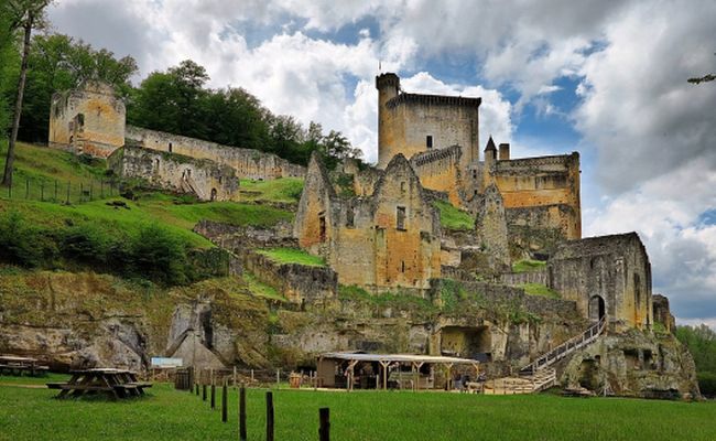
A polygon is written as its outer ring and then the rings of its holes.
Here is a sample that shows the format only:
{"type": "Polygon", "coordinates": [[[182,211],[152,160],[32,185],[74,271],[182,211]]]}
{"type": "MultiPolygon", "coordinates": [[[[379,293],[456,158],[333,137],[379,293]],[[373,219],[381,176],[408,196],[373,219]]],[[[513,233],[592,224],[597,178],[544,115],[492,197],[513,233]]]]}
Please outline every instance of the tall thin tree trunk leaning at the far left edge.
{"type": "Polygon", "coordinates": [[[25,78],[28,75],[28,57],[30,55],[30,37],[32,30],[43,24],[44,11],[52,0],[7,0],[3,10],[0,11],[9,17],[10,29],[22,28],[24,32],[22,44],[22,62],[20,64],[20,79],[18,80],[18,97],[15,99],[14,114],[12,118],[12,131],[8,143],[8,155],[6,170],[2,175],[2,185],[12,185],[12,171],[14,163],[15,141],[20,128],[20,115],[22,114],[22,98],[25,90],[25,78]]]}

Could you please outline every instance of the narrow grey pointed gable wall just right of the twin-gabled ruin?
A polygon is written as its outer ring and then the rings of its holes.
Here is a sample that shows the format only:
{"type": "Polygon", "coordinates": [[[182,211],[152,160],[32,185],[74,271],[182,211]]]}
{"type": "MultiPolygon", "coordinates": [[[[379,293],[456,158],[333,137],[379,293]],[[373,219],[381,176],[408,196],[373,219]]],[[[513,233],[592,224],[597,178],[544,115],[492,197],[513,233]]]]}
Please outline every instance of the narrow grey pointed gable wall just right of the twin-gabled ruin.
{"type": "Polygon", "coordinates": [[[481,205],[476,223],[480,246],[493,271],[503,272],[510,268],[510,251],[505,203],[496,185],[491,184],[485,190],[481,205]]]}

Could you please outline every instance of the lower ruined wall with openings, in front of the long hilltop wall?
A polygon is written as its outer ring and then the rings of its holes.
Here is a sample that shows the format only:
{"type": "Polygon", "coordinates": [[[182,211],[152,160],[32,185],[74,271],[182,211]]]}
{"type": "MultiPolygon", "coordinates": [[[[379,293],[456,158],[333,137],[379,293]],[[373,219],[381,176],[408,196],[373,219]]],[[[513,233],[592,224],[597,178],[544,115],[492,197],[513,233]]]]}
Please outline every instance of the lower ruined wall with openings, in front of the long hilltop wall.
{"type": "Polygon", "coordinates": [[[152,186],[195,194],[200,201],[238,201],[239,180],[228,165],[208,159],[126,146],[107,162],[121,178],[143,179],[152,186]]]}

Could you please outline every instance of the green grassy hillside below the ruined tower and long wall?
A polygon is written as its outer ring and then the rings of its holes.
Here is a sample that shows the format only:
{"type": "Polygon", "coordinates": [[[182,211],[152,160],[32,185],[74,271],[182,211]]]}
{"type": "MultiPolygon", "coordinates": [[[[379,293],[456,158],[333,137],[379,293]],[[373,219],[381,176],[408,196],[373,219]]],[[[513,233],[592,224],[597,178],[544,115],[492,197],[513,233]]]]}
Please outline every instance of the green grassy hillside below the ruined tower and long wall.
{"type": "MultiPolygon", "coordinates": [[[[4,146],[0,150],[1,169],[4,146]]],[[[0,189],[0,245],[9,250],[0,250],[0,260],[12,263],[66,268],[56,255],[72,259],[74,255],[64,252],[69,244],[79,247],[82,256],[102,270],[102,260],[111,266],[115,255],[144,255],[145,250],[139,249],[142,243],[151,248],[153,240],[177,251],[181,259],[182,250],[213,247],[192,232],[200,219],[237,226],[272,226],[293,219],[289,211],[253,202],[202,203],[187,196],[142,191],[133,191],[132,200],[128,200],[118,194],[117,187],[100,184],[108,178],[105,161],[24,143],[18,144],[17,152],[13,192],[0,189]],[[58,201],[53,201],[55,182],[59,186],[58,201]],[[88,193],[79,201],[77,193],[67,204],[65,189],[69,185],[75,192],[80,184],[85,191],[94,190],[91,201],[88,193]],[[19,258],[23,252],[26,259],[19,258]]],[[[280,181],[257,184],[264,189],[264,200],[285,202],[302,185],[296,182],[301,180],[280,181]]]]}

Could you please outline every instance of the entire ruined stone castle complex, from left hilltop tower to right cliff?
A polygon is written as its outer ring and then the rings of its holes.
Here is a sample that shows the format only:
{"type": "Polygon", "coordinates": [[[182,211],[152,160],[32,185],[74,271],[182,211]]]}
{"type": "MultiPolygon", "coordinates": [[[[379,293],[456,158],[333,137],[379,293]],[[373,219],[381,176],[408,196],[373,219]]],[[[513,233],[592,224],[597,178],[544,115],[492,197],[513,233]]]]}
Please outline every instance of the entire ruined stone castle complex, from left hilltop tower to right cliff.
{"type": "MultiPolygon", "coordinates": [[[[55,95],[50,146],[107,158],[123,178],[203,201],[238,201],[239,179],[304,178],[291,226],[237,229],[204,222],[196,229],[295,308],[323,316],[274,335],[279,348],[468,356],[492,377],[516,366],[536,375],[554,364],[574,387],[698,394],[687,352],[673,337],[654,336],[658,326],[674,327],[673,316],[668,300],[652,295],[639,236],[582,237],[577,152],[512,159],[510,146],[491,137],[481,148],[480,98],[404,93],[391,73],[377,76],[376,87],[376,166],[346,160],[329,172],[316,153],[303,168],[273,154],[126,126],[121,100],[93,83],[55,95]],[[469,228],[444,225],[445,205],[471,219],[469,228]],[[323,257],[327,268],[278,265],[256,251],[262,247],[300,247],[323,257]],[[524,259],[541,263],[513,272],[524,259]],[[530,295],[525,284],[560,299],[530,295]],[[352,323],[350,314],[340,315],[346,304],[335,306],[341,286],[434,304],[451,295],[479,301],[452,315],[410,316],[403,327],[392,310],[352,323]],[[341,319],[329,325],[334,315],[341,319]]],[[[184,340],[174,340],[171,347],[182,347],[184,340]]],[[[236,357],[236,345],[224,341],[218,358],[236,357]]]]}

